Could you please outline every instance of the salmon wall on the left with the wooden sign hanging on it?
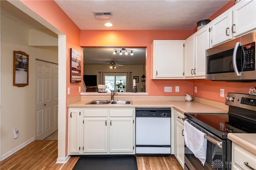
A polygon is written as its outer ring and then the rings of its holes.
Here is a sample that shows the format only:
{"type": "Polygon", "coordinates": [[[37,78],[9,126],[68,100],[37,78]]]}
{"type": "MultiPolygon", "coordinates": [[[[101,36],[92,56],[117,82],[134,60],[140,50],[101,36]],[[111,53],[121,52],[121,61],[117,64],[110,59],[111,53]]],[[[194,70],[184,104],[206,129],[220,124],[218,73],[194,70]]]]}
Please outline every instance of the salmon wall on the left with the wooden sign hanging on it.
{"type": "MultiPolygon", "coordinates": [[[[80,29],[74,22],[63,12],[63,10],[54,2],[54,0],[20,0],[28,8],[33,10],[44,20],[48,21],[53,27],[58,29],[59,35],[66,35],[66,87],[70,87],[70,95],[66,90],[66,146],[65,152],[68,151],[68,98],[79,96],[78,86],[83,86],[82,83],[70,83],[70,48],[74,48],[83,56],[82,48],[80,47],[80,29]],[[61,31],[61,33],[60,33],[61,31]]],[[[83,57],[81,58],[83,63],[83,57]]],[[[82,70],[83,70],[83,64],[82,70]]],[[[63,122],[59,122],[63,123],[63,122]]],[[[60,134],[59,134],[60,135],[60,134]]]]}

